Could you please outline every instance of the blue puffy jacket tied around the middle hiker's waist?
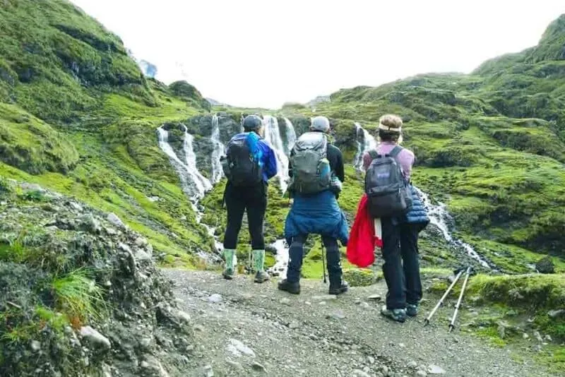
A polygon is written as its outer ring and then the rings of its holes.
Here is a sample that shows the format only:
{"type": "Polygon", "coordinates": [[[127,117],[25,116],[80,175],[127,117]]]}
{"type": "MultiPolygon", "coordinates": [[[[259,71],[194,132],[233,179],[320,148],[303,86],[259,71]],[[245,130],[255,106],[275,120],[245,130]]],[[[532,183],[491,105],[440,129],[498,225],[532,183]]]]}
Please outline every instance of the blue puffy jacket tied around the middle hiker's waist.
{"type": "Polygon", "coordinates": [[[285,239],[290,245],[292,237],[310,233],[332,237],[347,245],[347,219],[333,192],[326,190],[311,196],[295,196],[285,221],[285,239]]]}

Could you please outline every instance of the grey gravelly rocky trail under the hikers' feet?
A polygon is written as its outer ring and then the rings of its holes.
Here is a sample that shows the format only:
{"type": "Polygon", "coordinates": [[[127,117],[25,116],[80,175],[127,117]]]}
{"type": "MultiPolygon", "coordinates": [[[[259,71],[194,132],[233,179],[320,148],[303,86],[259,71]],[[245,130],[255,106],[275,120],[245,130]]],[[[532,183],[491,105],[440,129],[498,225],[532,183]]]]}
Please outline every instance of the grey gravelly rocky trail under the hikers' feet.
{"type": "Polygon", "coordinates": [[[448,333],[440,309],[422,303],[417,318],[394,323],[379,314],[383,282],[352,287],[340,297],[328,285],[303,280],[301,294],[232,281],[218,273],[163,270],[179,307],[194,321],[194,372],[189,376],[549,376],[534,361],[513,361],[512,350],[471,335],[448,333]]]}

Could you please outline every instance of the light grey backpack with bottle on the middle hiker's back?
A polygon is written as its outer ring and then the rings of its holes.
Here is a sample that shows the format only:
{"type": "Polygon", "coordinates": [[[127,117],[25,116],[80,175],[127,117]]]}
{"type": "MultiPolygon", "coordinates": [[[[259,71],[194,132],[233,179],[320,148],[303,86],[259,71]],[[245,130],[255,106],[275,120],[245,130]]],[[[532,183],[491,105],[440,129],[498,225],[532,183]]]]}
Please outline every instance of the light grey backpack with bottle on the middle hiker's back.
{"type": "Polygon", "coordinates": [[[327,153],[326,135],[321,132],[303,133],[290,154],[292,179],[289,190],[311,194],[330,188],[331,167],[327,153]]]}

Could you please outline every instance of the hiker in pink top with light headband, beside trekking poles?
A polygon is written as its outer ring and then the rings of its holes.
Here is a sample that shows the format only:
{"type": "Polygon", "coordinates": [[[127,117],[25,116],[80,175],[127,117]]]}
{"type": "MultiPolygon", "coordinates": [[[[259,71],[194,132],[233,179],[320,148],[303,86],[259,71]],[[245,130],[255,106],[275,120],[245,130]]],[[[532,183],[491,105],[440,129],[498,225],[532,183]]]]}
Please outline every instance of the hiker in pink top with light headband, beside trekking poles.
{"type": "MultiPolygon", "coordinates": [[[[399,116],[386,114],[379,119],[379,146],[363,155],[363,167],[366,174],[365,190],[371,187],[371,180],[379,182],[386,177],[382,185],[391,185],[395,174],[388,168],[398,169],[400,165],[400,187],[405,193],[397,190],[390,196],[371,196],[367,199],[369,213],[375,219],[376,237],[381,238],[384,258],[383,274],[388,287],[386,305],[381,314],[398,322],[404,322],[406,316],[417,316],[418,304],[422,299],[422,282],[420,281],[420,265],[418,261],[418,234],[429,223],[426,210],[420,197],[410,182],[415,155],[411,150],[400,147],[402,143],[403,121],[399,116]],[[393,157],[396,164],[387,164],[384,156],[393,157]],[[375,162],[375,163],[373,163],[375,162]],[[371,172],[371,169],[375,169],[371,172]],[[397,195],[398,196],[394,196],[397,195]],[[396,201],[395,201],[396,199],[396,201]],[[403,204],[404,203],[404,204],[403,204]],[[396,215],[377,217],[375,213],[386,213],[388,206],[403,206],[403,211],[396,215]],[[372,206],[372,208],[371,208],[372,206]],[[376,206],[376,208],[375,208],[376,206]],[[380,229],[379,229],[380,228],[380,229]]],[[[373,188],[371,188],[373,189],[373,188]]],[[[376,188],[379,189],[379,188],[376,188]]],[[[384,192],[384,191],[383,191],[384,192]]],[[[394,209],[393,209],[394,210],[394,209]]],[[[393,213],[393,211],[389,211],[393,213]]],[[[373,229],[371,229],[373,230],[373,229]]],[[[377,239],[377,241],[379,241],[377,239]]]]}

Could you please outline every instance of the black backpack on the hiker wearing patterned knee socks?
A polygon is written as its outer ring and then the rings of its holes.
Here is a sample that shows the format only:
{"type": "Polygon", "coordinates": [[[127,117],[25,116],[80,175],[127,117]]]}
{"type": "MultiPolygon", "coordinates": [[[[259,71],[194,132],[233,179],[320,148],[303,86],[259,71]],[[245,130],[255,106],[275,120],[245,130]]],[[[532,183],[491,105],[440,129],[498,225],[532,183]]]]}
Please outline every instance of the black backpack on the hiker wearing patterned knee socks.
{"type": "Polygon", "coordinates": [[[227,180],[234,186],[254,186],[263,179],[263,168],[251,155],[246,138],[230,140],[220,162],[227,180]]]}

